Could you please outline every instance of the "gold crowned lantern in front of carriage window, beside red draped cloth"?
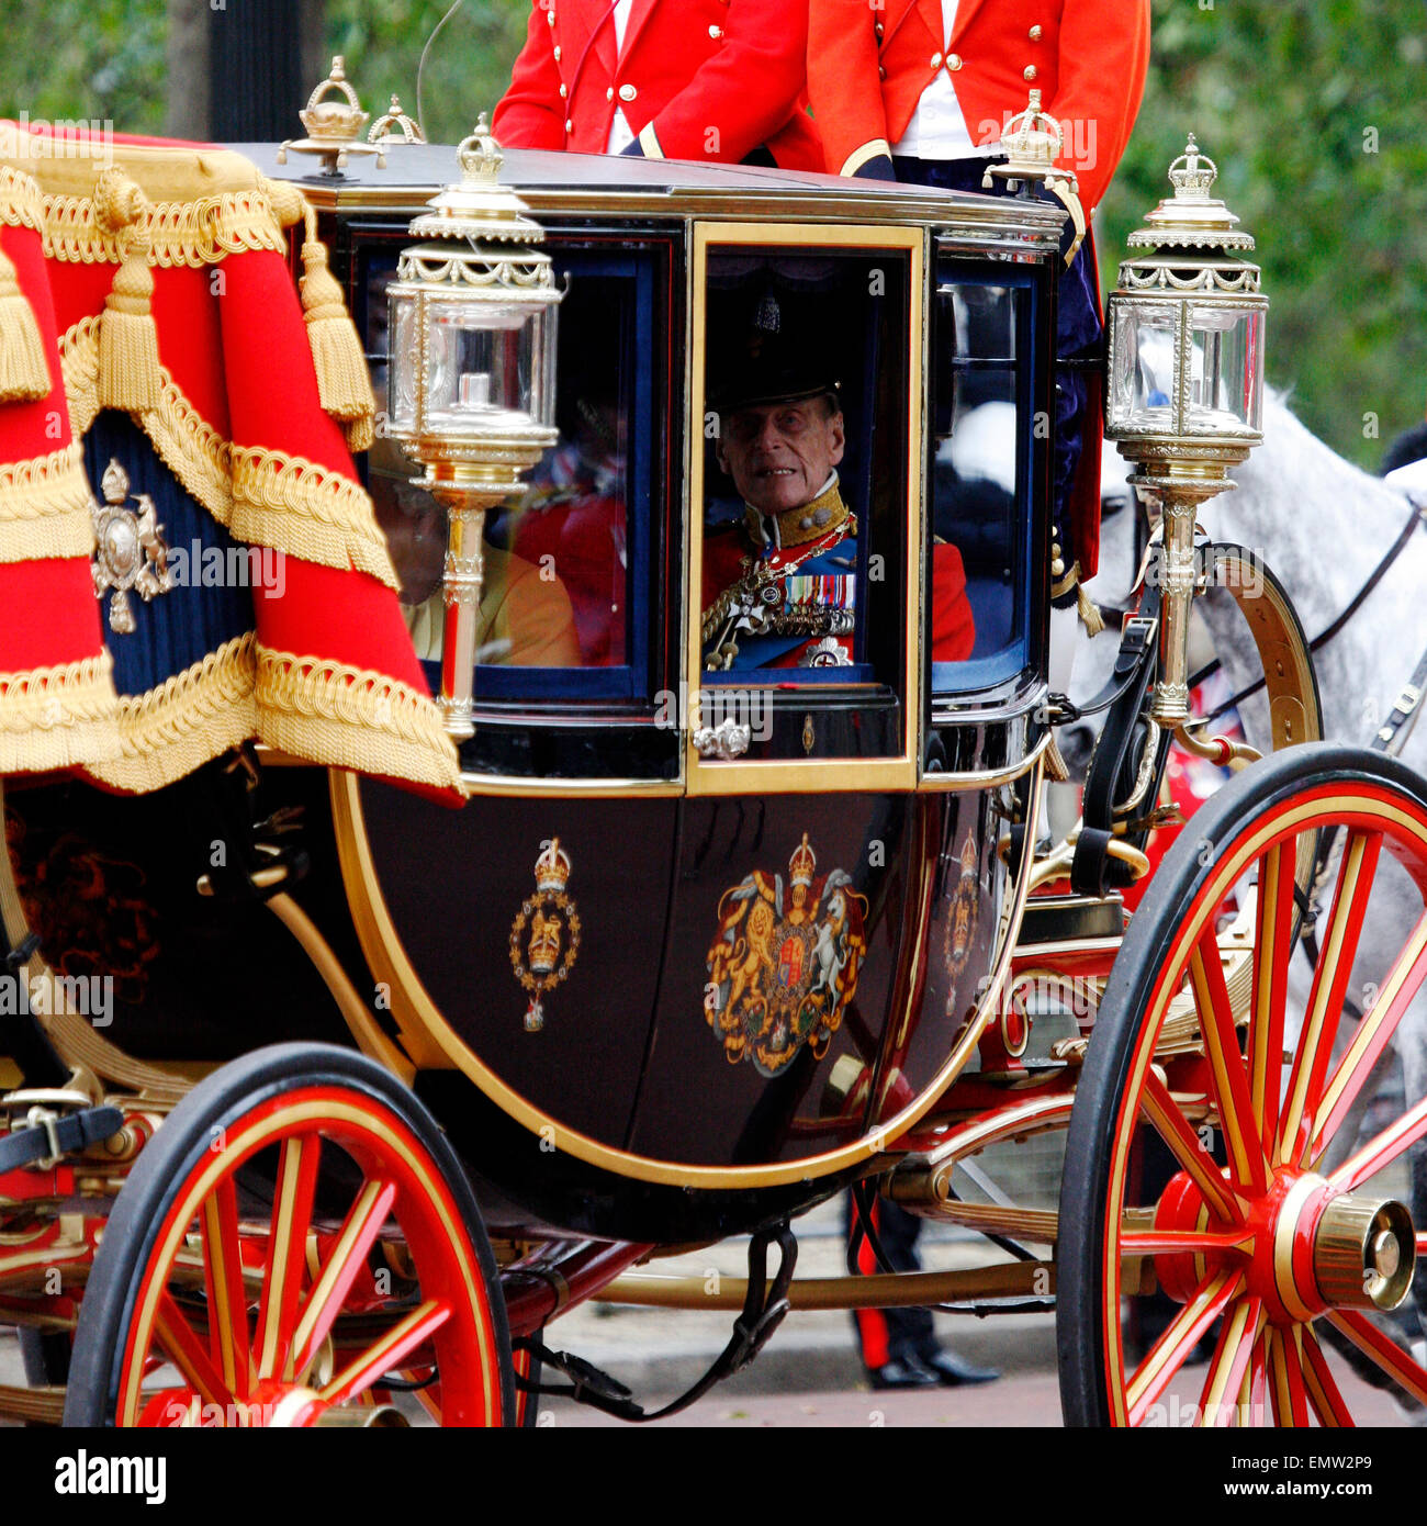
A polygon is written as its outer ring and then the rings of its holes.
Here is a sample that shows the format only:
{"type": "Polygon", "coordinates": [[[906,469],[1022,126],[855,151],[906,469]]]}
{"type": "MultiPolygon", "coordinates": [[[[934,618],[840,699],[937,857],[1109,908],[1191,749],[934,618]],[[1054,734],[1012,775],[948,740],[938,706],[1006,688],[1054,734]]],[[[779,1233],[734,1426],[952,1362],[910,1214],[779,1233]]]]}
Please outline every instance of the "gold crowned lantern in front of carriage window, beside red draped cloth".
{"type": "Polygon", "coordinates": [[[441,707],[475,732],[473,678],[485,511],[514,493],[556,443],[556,313],[563,296],[543,229],[499,182],[485,116],[456,150],[461,183],[411,224],[388,288],[388,432],[426,467],[447,510],[441,707]]]}

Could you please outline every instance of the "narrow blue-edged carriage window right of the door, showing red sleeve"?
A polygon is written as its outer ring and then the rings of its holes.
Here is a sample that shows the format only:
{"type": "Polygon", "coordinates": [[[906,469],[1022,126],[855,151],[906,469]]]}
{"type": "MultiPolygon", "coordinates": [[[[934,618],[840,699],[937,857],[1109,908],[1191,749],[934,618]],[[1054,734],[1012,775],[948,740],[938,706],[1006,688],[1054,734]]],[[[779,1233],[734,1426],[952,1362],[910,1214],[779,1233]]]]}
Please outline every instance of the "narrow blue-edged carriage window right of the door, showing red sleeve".
{"type": "Polygon", "coordinates": [[[997,682],[1024,664],[1035,301],[1029,281],[943,272],[929,421],[937,690],[997,682]]]}

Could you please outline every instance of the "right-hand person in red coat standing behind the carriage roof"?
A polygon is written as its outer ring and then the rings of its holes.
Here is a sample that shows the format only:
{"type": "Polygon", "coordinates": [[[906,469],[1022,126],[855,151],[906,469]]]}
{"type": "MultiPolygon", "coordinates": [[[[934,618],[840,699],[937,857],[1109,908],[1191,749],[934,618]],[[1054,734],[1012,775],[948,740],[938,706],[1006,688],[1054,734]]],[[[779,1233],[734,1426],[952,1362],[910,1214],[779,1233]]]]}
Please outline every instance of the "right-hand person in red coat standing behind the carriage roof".
{"type": "MultiPolygon", "coordinates": [[[[1148,63],[1149,0],[810,0],[807,87],[832,174],[980,191],[1006,124],[1039,90],[1088,218],[1148,63]]],[[[1091,577],[1099,552],[1100,336],[1087,237],[1061,278],[1056,324],[1058,606],[1074,603],[1076,574],[1091,577]]]]}

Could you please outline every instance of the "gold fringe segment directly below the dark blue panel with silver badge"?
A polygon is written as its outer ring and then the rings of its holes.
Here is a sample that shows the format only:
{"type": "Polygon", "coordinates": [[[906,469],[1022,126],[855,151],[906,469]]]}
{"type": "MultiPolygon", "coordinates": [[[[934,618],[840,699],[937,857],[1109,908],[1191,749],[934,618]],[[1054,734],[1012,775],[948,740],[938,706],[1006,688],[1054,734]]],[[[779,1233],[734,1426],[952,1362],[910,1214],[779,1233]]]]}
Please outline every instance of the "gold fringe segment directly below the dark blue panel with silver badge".
{"type": "Polygon", "coordinates": [[[113,789],[160,789],[255,736],[255,645],[247,632],[147,694],[121,696],[119,755],[87,772],[113,789]]]}

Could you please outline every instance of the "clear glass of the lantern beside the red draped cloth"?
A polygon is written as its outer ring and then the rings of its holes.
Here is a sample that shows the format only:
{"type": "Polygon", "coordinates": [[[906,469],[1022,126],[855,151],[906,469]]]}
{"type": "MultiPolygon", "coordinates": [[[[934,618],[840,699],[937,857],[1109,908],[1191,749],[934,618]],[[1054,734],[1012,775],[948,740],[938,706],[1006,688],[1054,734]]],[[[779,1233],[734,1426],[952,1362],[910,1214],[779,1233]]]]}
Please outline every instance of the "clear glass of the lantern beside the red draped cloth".
{"type": "Polygon", "coordinates": [[[539,316],[517,302],[429,302],[426,427],[461,439],[531,424],[545,391],[539,316]]]}

